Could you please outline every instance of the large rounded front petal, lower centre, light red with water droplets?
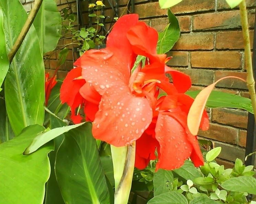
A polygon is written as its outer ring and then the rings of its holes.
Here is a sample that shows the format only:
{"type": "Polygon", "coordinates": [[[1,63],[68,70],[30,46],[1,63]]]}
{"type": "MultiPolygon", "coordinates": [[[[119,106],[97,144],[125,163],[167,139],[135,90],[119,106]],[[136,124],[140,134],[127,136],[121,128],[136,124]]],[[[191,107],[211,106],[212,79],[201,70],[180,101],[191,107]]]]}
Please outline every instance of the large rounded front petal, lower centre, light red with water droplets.
{"type": "Polygon", "coordinates": [[[114,146],[125,146],[140,138],[151,121],[152,109],[147,99],[135,97],[127,85],[120,84],[102,96],[92,134],[114,146]]]}

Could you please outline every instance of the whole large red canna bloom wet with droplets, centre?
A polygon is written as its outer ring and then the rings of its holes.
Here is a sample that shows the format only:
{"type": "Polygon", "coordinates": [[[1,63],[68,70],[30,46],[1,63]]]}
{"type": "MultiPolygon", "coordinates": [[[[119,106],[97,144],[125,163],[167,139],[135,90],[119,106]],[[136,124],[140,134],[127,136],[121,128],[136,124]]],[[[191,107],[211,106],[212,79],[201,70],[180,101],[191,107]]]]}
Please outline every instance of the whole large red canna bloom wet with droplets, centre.
{"type": "MultiPolygon", "coordinates": [[[[189,157],[199,166],[203,160],[197,138],[186,122],[193,102],[184,94],[191,87],[190,77],[165,65],[168,59],[156,53],[157,41],[156,30],[138,22],[136,14],[121,17],[109,34],[107,48],[89,50],[76,62],[79,71],[72,75],[72,70],[64,80],[61,100],[71,111],[73,107],[73,114],[75,107],[88,101],[97,106],[90,118],[94,138],[114,146],[137,140],[137,168],[156,159],[156,149],[157,169],[178,168],[189,157]],[[146,56],[146,65],[131,74],[137,55],[146,56]],[[79,80],[83,81],[78,85],[79,80]],[[160,90],[167,96],[157,99],[160,90]]],[[[204,112],[201,128],[208,126],[204,112]]]]}

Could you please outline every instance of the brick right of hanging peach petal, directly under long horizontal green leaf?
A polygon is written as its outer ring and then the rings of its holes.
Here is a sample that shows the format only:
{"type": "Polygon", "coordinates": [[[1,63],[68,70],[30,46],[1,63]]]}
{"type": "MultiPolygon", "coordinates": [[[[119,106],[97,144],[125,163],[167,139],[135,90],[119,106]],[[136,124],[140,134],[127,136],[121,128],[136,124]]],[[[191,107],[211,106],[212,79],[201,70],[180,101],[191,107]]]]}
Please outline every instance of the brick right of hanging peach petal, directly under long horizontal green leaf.
{"type": "Polygon", "coordinates": [[[216,108],[212,109],[212,121],[239,128],[247,128],[248,113],[241,110],[216,108]]]}

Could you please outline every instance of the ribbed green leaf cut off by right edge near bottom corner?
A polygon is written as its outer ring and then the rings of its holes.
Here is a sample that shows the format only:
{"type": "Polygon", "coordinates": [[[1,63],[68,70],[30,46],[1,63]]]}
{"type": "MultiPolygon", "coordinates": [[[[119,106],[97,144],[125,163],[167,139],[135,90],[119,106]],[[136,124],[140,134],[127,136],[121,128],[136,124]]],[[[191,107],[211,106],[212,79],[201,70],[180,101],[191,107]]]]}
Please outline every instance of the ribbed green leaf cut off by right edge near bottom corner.
{"type": "Polygon", "coordinates": [[[234,177],[224,181],[221,187],[229,191],[256,194],[256,179],[252,176],[234,177]]]}

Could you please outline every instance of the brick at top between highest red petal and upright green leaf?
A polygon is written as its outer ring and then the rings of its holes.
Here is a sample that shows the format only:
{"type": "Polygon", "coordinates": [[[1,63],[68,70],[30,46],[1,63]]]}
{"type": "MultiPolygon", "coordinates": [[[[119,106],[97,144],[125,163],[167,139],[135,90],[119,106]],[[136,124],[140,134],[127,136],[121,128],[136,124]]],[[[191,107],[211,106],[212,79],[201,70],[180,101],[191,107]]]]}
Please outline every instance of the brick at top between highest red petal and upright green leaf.
{"type": "Polygon", "coordinates": [[[147,18],[152,16],[166,16],[167,10],[160,9],[158,2],[148,2],[136,5],[135,13],[137,13],[140,18],[147,18]]]}

